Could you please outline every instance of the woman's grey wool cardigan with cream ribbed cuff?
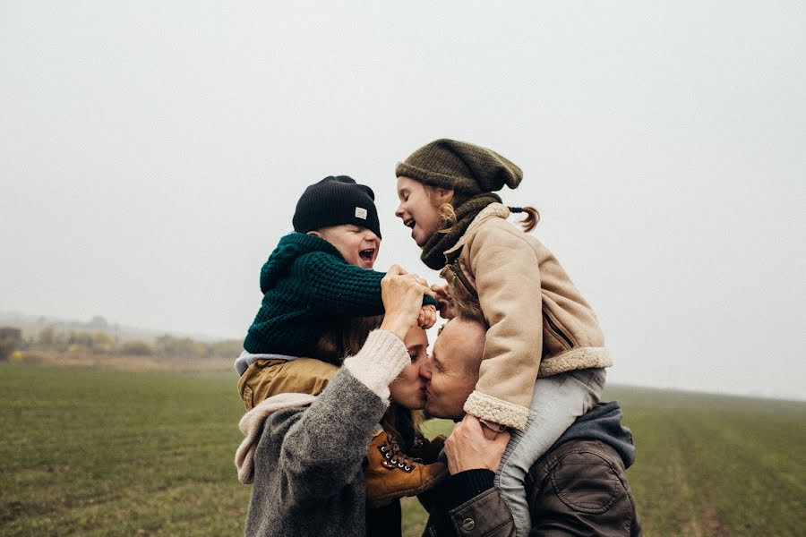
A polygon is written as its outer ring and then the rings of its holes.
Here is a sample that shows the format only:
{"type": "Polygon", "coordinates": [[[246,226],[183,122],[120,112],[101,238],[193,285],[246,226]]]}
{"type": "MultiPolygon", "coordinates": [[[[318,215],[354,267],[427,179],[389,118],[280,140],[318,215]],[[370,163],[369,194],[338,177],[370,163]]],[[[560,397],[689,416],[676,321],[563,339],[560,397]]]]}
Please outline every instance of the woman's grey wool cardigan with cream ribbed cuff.
{"type": "Polygon", "coordinates": [[[361,465],[389,384],[408,362],[400,339],[376,330],[312,405],[270,414],[254,452],[245,535],[364,536],[361,465]]]}

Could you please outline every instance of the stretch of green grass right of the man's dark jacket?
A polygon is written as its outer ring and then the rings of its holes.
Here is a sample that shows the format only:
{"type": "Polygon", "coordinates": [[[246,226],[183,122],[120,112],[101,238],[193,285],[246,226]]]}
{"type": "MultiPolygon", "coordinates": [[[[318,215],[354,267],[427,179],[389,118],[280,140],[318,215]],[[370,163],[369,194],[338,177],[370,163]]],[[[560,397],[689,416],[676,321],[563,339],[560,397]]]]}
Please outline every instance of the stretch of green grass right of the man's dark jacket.
{"type": "Polygon", "coordinates": [[[806,534],[806,404],[611,389],[636,438],[647,535],[806,534]]]}

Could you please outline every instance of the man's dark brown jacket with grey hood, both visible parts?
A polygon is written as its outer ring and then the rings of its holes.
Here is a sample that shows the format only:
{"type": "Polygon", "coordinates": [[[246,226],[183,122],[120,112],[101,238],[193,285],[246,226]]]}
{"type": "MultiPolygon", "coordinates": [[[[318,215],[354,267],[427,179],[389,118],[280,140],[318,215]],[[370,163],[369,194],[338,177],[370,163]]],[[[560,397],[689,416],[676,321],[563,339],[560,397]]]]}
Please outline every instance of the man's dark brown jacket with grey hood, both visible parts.
{"type": "MultiPolygon", "coordinates": [[[[625,473],[635,458],[617,403],[581,416],[532,466],[526,478],[529,535],[641,535],[625,473]]],[[[515,524],[490,470],[457,473],[422,501],[424,535],[512,537],[515,524]]]]}

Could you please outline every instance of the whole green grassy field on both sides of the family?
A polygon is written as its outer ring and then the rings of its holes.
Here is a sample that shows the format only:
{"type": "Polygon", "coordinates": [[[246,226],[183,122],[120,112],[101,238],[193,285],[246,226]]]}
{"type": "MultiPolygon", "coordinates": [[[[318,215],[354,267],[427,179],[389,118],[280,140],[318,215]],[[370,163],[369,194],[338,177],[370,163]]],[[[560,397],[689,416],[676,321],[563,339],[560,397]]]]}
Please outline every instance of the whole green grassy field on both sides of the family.
{"type": "MultiPolygon", "coordinates": [[[[647,535],[806,534],[806,404],[611,388],[647,535]]],[[[0,534],[239,535],[232,373],[0,365],[0,534]]],[[[445,428],[437,423],[435,428],[445,428]]],[[[405,529],[423,511],[406,502],[405,529]]]]}

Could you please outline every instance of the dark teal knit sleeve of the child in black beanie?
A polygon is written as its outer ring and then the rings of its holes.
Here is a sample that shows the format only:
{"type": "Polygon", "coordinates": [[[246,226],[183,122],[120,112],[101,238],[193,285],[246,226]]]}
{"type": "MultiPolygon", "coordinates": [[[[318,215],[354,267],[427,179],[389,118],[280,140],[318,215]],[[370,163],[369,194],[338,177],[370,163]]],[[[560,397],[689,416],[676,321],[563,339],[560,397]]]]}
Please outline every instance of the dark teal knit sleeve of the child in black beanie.
{"type": "MultiPolygon", "coordinates": [[[[291,268],[294,277],[308,286],[311,307],[337,315],[381,315],[381,280],[385,272],[350,265],[325,252],[302,256],[291,268]]],[[[430,296],[423,304],[436,305],[430,296]]]]}

